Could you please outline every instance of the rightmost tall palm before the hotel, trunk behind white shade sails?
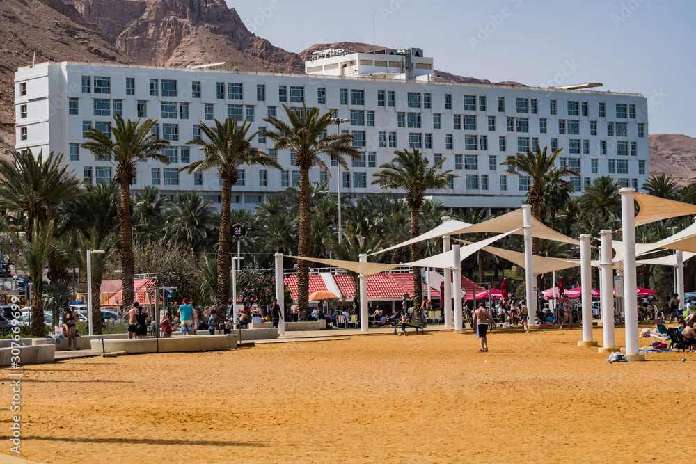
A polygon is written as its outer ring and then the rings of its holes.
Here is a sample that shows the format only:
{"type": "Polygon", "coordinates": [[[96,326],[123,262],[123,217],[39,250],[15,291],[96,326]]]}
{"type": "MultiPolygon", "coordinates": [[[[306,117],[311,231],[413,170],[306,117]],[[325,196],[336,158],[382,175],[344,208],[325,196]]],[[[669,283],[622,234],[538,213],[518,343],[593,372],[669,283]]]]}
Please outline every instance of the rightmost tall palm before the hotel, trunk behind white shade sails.
{"type": "MultiPolygon", "coordinates": [[[[562,148],[555,150],[551,154],[546,154],[547,147],[541,150],[537,145],[535,151],[516,153],[514,157],[507,157],[503,161],[503,166],[509,166],[505,170],[507,174],[529,179],[528,200],[532,205],[532,216],[541,221],[541,200],[544,198],[546,184],[550,179],[557,179],[557,182],[568,182],[561,178],[567,176],[579,176],[580,173],[569,168],[556,168],[555,163],[558,155],[563,151],[562,148]]],[[[539,253],[539,239],[532,240],[532,253],[539,253]]]]}

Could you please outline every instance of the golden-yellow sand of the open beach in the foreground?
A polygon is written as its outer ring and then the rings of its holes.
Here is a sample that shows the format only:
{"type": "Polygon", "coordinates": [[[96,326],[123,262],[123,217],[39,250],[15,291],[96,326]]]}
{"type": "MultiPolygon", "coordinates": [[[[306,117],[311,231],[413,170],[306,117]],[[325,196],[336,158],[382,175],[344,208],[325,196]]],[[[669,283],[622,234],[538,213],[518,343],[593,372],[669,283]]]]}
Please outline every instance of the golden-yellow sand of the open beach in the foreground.
{"type": "MultiPolygon", "coordinates": [[[[601,329],[594,336],[601,340],[601,329]]],[[[471,333],[380,335],[29,366],[22,457],[688,461],[696,355],[660,353],[610,365],[596,348],[578,348],[580,337],[578,328],[493,332],[491,351],[477,353],[471,333]]],[[[623,344],[623,330],[616,339],[623,344]]],[[[7,443],[1,453],[10,454],[7,443]]]]}

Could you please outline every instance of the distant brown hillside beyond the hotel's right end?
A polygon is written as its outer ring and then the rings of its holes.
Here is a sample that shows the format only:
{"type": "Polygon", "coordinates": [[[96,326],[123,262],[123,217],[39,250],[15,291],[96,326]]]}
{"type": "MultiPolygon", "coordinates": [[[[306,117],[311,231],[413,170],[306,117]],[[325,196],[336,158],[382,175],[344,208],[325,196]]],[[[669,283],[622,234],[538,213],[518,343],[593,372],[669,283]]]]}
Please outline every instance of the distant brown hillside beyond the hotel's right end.
{"type": "Polygon", "coordinates": [[[696,177],[696,138],[682,134],[653,134],[648,136],[650,174],[669,174],[679,186],[696,177]]]}

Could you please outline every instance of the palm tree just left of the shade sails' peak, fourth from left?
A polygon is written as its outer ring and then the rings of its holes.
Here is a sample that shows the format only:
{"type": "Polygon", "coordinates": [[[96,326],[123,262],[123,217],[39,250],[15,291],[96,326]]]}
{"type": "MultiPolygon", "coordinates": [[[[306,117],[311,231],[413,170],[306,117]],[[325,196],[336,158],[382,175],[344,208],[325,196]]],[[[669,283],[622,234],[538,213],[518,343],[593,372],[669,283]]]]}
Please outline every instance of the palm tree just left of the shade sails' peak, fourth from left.
{"type": "MultiPolygon", "coordinates": [[[[447,158],[437,161],[432,166],[427,157],[421,156],[418,148],[396,150],[395,157],[379,166],[379,171],[373,176],[377,179],[372,184],[380,184],[382,189],[402,189],[406,192],[406,203],[411,208],[411,238],[420,235],[420,207],[425,201],[428,190],[447,189],[450,179],[459,177],[452,170],[439,172],[447,158]]],[[[411,258],[420,259],[420,243],[411,245],[411,258]]],[[[413,314],[417,321],[422,321],[422,284],[420,267],[413,268],[413,314]]]]}

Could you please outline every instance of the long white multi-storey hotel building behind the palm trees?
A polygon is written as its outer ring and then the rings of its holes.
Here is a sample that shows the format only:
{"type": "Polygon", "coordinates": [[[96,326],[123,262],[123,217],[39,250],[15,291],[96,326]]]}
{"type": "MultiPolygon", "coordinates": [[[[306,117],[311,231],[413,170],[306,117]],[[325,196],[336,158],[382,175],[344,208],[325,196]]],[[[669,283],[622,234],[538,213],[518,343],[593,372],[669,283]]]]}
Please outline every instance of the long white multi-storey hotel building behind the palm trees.
{"type": "MultiPolygon", "coordinates": [[[[41,63],[15,74],[18,151],[63,152],[64,162],[89,182],[113,177],[108,160],[81,147],[88,127],[108,131],[113,115],[156,118],[160,136],[171,141],[171,164],[141,163],[134,191],[155,185],[163,194],[201,191],[219,203],[215,171],[203,175],[177,169],[203,154],[187,141],[200,137],[198,125],[214,119],[246,118],[253,129],[267,127],[267,115],[283,115],[283,105],[338,109],[340,125],[364,150],[341,172],[341,193],[352,198],[384,191],[372,185],[379,165],[394,150],[418,147],[431,161],[445,157],[445,168],[461,176],[447,191],[433,193],[447,207],[516,208],[527,179],[506,175],[500,163],[515,152],[548,146],[563,148],[559,159],[580,171],[571,178],[579,195],[592,179],[610,175],[640,191],[649,175],[647,101],[635,93],[569,88],[532,88],[441,83],[432,58],[420,49],[374,53],[324,51],[306,63],[306,74],[237,72],[203,67],[155,67],[93,63],[41,63]]],[[[329,127],[335,131],[336,126],[329,127]]],[[[232,207],[254,207],[264,195],[299,181],[291,152],[274,152],[262,134],[255,144],[283,170],[244,166],[233,187],[232,207]]],[[[335,166],[335,164],[330,166],[335,166]]],[[[338,167],[329,186],[338,187],[338,167]]],[[[312,180],[327,179],[319,168],[312,180]]]]}

